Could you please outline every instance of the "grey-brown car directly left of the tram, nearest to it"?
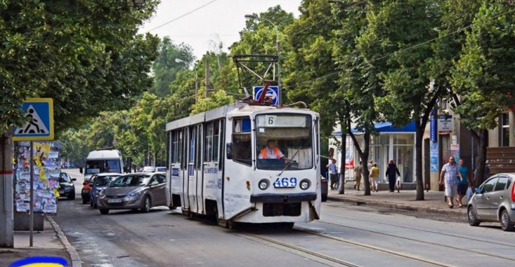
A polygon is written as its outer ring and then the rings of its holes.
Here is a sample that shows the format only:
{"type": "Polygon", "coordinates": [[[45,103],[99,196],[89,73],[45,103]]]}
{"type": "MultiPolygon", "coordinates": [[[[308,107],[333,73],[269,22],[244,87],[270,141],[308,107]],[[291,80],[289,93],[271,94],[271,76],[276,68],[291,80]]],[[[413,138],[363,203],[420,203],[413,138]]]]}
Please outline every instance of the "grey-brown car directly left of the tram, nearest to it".
{"type": "Polygon", "coordinates": [[[98,209],[108,214],[110,209],[141,209],[166,205],[166,177],[163,173],[131,173],[115,179],[98,194],[98,209]]]}

